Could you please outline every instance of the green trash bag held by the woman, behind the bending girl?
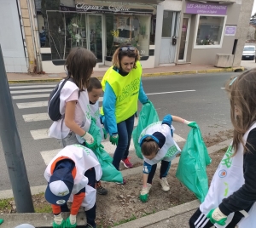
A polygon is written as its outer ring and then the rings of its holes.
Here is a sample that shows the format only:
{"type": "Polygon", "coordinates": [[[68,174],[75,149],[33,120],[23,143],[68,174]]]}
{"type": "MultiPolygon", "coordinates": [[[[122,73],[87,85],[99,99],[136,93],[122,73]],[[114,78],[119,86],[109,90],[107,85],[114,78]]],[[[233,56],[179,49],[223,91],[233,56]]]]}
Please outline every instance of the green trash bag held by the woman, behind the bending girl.
{"type": "Polygon", "coordinates": [[[141,146],[138,143],[140,134],[143,132],[143,129],[148,127],[149,124],[158,122],[159,117],[157,112],[154,109],[154,105],[149,101],[142,107],[142,111],[139,113],[137,127],[132,131],[132,139],[135,147],[137,157],[143,159],[143,154],[141,146]]]}

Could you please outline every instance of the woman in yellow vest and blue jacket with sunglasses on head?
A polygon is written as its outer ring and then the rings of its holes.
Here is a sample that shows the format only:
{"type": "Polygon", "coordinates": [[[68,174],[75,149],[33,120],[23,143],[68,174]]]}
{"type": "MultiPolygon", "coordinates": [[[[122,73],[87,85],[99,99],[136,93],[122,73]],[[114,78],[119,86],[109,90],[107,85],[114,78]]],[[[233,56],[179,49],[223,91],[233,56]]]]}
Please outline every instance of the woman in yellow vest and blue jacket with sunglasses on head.
{"type": "Polygon", "coordinates": [[[117,145],[113,166],[118,170],[120,161],[126,168],[132,168],[128,154],[137,100],[143,104],[148,102],[143,90],[143,69],[139,59],[137,48],[128,44],[117,48],[113,54],[113,66],[102,79],[102,123],[110,135],[110,142],[117,145]]]}

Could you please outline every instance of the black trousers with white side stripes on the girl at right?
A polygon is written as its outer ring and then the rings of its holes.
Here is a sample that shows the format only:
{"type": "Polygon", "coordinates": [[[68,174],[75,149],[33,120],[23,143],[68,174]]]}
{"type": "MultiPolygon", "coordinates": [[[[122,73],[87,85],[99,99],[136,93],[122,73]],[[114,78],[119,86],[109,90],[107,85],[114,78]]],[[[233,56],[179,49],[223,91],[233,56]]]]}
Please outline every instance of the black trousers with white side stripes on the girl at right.
{"type": "MultiPolygon", "coordinates": [[[[248,212],[250,208],[252,208],[252,206],[253,204],[250,207],[246,208],[245,211],[248,212]]],[[[235,228],[236,225],[240,222],[240,220],[243,217],[244,217],[243,214],[241,214],[239,211],[236,211],[233,216],[233,219],[230,221],[229,225],[226,226],[226,228],[235,228]]],[[[212,226],[213,226],[212,222],[209,219],[207,219],[206,215],[201,213],[200,208],[198,208],[195,214],[193,214],[192,217],[189,219],[190,228],[195,228],[195,227],[211,228],[212,226]]]]}

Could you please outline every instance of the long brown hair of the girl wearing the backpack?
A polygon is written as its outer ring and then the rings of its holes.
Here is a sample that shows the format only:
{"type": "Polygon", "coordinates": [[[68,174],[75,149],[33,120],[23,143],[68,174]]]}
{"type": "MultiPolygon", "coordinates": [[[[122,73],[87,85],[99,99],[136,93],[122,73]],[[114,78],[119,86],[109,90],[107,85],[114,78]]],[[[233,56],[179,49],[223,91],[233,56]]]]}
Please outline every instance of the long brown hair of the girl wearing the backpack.
{"type": "Polygon", "coordinates": [[[96,66],[96,56],[85,48],[72,48],[67,55],[65,66],[67,67],[67,77],[73,77],[73,82],[79,87],[79,90],[84,90],[88,87],[88,80],[93,67],[96,66]]]}

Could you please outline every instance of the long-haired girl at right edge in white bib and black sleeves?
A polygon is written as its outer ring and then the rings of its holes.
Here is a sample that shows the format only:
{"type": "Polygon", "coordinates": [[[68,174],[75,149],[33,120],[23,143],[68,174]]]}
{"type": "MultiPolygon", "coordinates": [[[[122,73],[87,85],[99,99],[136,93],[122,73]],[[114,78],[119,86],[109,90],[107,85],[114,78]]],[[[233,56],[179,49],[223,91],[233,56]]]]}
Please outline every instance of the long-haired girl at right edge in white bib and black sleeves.
{"type": "Polygon", "coordinates": [[[256,71],[226,85],[234,136],[190,227],[256,227],[256,71]]]}

